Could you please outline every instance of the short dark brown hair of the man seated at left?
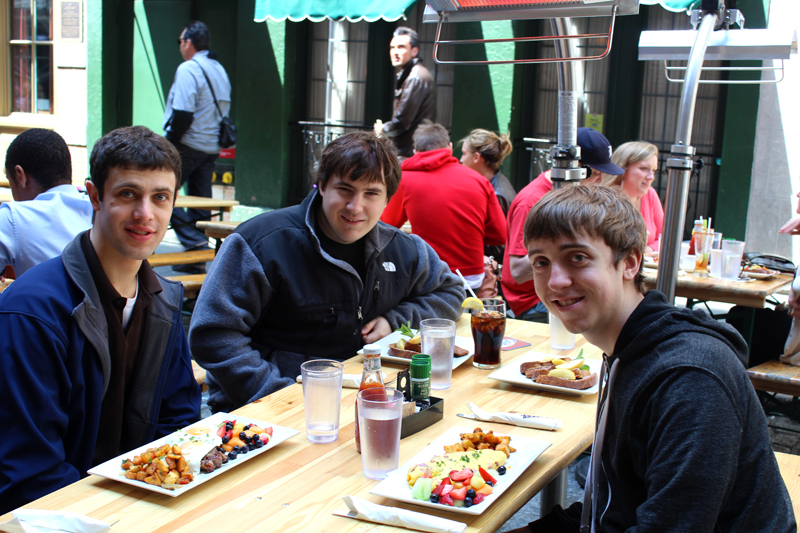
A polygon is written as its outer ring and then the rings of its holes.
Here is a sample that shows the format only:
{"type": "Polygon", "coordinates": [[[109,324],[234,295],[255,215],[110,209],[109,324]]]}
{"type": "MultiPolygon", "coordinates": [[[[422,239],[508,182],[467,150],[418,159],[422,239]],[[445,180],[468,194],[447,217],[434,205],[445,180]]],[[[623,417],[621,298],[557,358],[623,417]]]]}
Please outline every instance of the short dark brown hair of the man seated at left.
{"type": "Polygon", "coordinates": [[[145,126],[118,128],[103,135],[89,157],[89,179],[100,199],[112,168],[120,170],[166,170],[175,174],[175,192],[181,187],[181,156],[161,135],[145,126]]]}

